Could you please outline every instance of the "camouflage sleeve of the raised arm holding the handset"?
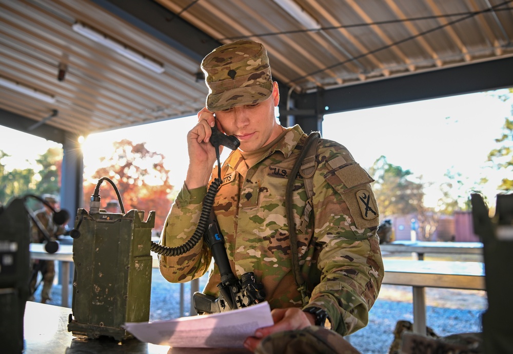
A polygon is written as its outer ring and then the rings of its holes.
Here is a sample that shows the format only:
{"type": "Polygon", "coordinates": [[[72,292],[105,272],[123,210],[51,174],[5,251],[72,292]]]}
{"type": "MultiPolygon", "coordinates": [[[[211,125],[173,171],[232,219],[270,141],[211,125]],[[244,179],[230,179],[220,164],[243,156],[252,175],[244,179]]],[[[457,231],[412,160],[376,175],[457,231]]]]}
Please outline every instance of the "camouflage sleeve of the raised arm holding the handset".
{"type": "MultiPolygon", "coordinates": [[[[180,247],[190,240],[198,226],[205,195],[205,187],[189,191],[184,184],[164,223],[160,244],[180,247]]],[[[202,237],[183,255],[159,255],[159,260],[160,271],[165,279],[172,283],[183,283],[204,275],[210,265],[211,255],[202,237]]]]}

